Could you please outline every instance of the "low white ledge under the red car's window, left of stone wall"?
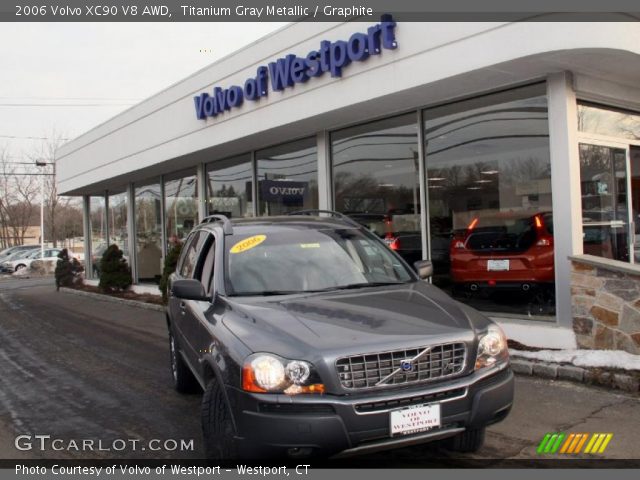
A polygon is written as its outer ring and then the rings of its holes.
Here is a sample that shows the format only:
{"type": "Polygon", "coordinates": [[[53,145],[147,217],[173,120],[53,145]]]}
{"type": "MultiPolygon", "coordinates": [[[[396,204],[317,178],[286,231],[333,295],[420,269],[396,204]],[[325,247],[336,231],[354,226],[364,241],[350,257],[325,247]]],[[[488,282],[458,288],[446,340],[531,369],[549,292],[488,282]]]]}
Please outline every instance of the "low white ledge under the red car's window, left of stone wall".
{"type": "Polygon", "coordinates": [[[555,323],[541,321],[492,318],[510,340],[537,348],[576,348],[576,335],[570,328],[558,327],[555,323]]]}

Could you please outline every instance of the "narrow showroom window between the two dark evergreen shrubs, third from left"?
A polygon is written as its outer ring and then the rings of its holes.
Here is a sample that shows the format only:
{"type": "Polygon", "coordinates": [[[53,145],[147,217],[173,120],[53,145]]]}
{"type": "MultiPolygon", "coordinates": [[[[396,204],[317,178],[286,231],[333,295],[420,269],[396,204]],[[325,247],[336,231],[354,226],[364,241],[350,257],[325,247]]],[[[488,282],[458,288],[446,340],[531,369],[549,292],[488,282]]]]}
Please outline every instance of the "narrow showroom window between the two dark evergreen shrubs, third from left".
{"type": "Polygon", "coordinates": [[[136,265],[139,282],[158,282],[162,272],[160,184],[135,187],[136,265]]]}

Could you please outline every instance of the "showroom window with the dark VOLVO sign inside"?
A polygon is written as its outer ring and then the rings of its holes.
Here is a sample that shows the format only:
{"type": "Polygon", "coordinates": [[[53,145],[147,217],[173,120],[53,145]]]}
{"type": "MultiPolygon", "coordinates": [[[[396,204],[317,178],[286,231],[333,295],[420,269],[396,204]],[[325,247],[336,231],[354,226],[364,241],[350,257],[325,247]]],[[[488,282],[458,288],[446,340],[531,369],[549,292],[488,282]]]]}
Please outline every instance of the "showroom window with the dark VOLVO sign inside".
{"type": "Polygon", "coordinates": [[[260,215],[318,208],[318,148],[310,137],[256,152],[260,215]]]}

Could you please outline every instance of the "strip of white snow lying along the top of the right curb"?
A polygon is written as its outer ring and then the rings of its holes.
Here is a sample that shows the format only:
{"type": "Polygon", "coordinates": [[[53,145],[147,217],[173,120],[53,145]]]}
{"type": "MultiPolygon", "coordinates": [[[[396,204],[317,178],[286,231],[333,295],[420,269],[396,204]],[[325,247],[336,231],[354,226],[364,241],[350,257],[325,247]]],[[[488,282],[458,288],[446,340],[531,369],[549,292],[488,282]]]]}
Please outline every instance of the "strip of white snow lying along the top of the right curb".
{"type": "Polygon", "coordinates": [[[576,367],[618,368],[640,370],[640,355],[620,350],[540,350],[524,352],[509,350],[512,357],[528,358],[551,363],[571,363],[576,367]]]}

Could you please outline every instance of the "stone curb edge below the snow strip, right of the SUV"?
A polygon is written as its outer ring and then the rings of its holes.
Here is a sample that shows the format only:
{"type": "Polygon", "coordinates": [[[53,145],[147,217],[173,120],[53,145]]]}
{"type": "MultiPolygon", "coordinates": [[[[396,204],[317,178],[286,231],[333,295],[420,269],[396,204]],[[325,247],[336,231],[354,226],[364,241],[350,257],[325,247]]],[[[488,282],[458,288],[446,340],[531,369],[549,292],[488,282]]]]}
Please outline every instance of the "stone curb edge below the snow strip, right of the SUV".
{"type": "Polygon", "coordinates": [[[605,368],[576,367],[562,363],[549,363],[511,357],[511,369],[523,376],[615,388],[629,393],[640,392],[640,372],[609,370],[605,368]]]}

